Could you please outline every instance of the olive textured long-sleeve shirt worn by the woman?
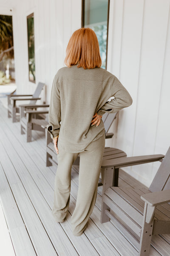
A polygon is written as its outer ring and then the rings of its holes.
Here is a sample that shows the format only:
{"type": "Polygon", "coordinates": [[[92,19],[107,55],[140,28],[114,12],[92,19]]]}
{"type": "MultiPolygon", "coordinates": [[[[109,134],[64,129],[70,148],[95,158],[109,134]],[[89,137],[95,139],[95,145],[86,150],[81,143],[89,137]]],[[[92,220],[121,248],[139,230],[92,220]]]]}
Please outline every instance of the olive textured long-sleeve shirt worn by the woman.
{"type": "Polygon", "coordinates": [[[114,113],[131,104],[130,94],[107,70],[62,67],[52,85],[47,128],[52,138],[59,135],[65,151],[81,152],[105,133],[102,119],[91,126],[96,112],[114,113]]]}

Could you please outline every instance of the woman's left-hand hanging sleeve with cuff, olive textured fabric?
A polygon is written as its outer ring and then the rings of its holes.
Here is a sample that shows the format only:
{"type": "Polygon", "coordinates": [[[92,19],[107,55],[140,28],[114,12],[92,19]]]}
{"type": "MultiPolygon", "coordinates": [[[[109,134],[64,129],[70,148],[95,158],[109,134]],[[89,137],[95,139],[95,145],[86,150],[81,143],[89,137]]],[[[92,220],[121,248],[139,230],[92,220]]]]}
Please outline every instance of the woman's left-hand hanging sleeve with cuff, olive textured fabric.
{"type": "Polygon", "coordinates": [[[53,85],[51,89],[51,99],[50,107],[48,112],[48,122],[47,125],[48,132],[51,134],[51,138],[59,135],[60,122],[61,122],[61,103],[60,103],[60,93],[59,85],[54,77],[53,85]]]}

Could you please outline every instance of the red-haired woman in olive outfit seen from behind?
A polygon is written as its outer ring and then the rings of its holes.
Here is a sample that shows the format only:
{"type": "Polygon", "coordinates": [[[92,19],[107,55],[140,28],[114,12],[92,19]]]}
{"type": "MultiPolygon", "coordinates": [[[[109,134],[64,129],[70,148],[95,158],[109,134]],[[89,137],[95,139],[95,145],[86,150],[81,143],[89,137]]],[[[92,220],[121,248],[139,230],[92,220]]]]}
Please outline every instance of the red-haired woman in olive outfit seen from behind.
{"type": "Polygon", "coordinates": [[[80,154],[79,188],[71,217],[74,236],[81,236],[94,209],[105,148],[102,115],[132,104],[120,81],[100,68],[102,61],[95,32],[76,30],[68,42],[65,64],[54,77],[48,131],[54,141],[58,167],[52,213],[62,222],[68,212],[71,166],[80,154]],[[110,97],[114,96],[110,102],[110,97]]]}

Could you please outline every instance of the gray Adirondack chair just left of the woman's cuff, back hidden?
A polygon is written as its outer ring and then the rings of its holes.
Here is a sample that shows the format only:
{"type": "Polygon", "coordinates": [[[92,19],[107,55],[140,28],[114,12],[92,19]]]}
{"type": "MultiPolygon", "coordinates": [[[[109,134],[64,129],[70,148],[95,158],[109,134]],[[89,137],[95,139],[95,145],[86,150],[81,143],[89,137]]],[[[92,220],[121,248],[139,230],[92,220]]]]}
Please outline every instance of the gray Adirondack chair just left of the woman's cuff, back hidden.
{"type": "Polygon", "coordinates": [[[31,142],[32,130],[44,131],[42,125],[48,123],[48,110],[37,110],[37,108],[49,108],[49,105],[20,105],[21,134],[26,133],[27,142],[31,142]],[[29,109],[28,109],[29,108],[29,109]]]}

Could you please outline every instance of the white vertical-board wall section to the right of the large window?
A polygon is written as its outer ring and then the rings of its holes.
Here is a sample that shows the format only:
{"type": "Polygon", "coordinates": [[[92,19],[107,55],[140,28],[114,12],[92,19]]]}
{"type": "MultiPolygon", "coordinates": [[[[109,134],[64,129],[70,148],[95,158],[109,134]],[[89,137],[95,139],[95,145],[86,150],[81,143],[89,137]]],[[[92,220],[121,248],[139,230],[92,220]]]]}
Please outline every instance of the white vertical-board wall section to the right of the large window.
{"type": "MultiPolygon", "coordinates": [[[[170,0],[111,0],[108,71],[133,98],[119,113],[111,146],[128,156],[165,154],[170,146],[170,0]]],[[[125,168],[147,186],[159,163],[125,168]]]]}

